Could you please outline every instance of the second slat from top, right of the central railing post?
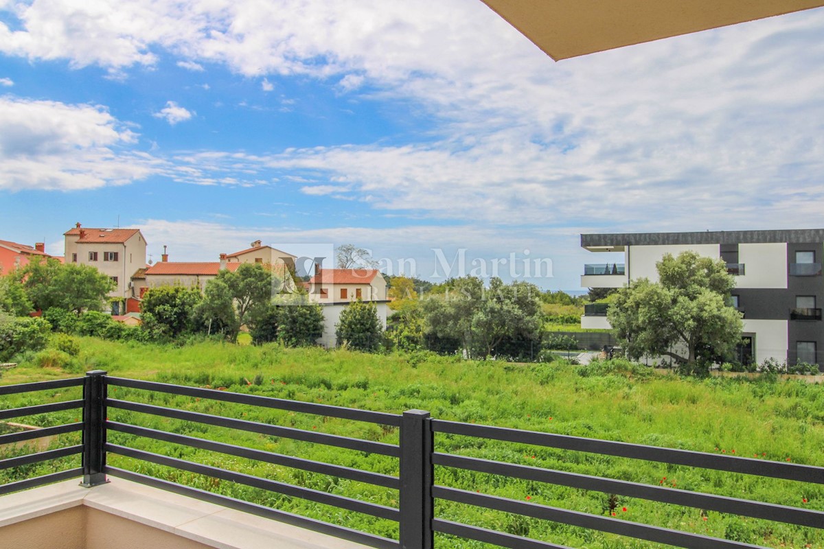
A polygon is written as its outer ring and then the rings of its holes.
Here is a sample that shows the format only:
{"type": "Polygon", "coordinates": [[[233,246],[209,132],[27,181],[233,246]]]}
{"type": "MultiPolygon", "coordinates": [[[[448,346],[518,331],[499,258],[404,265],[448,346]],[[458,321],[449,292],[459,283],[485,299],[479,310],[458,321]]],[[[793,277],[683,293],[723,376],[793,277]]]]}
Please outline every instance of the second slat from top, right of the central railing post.
{"type": "Polygon", "coordinates": [[[698,509],[719,511],[719,513],[738,514],[753,519],[775,520],[782,523],[798,524],[798,526],[824,528],[824,513],[822,511],[798,509],[784,505],[761,503],[760,501],[739,500],[726,495],[677,490],[666,486],[650,486],[639,482],[618,481],[612,478],[592,477],[575,472],[555,471],[554,469],[501,463],[452,454],[433,454],[433,463],[444,467],[488,472],[505,477],[522,478],[528,481],[547,482],[583,490],[602,491],[607,494],[627,495],[644,500],[686,505],[698,509]]]}

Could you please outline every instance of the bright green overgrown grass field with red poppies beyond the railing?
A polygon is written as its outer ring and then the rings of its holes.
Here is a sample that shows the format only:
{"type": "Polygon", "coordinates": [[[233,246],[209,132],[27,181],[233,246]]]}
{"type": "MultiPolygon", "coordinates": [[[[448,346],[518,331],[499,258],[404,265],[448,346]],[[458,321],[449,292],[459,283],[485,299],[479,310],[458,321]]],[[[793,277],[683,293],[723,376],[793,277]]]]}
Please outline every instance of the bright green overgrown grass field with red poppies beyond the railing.
{"type": "MultiPolygon", "coordinates": [[[[512,365],[494,361],[461,361],[428,354],[366,355],[352,351],[284,349],[276,346],[235,346],[213,342],[187,347],[151,346],[80,338],[77,361],[57,368],[24,361],[3,374],[0,383],[14,384],[108,370],[110,375],[167,383],[224,387],[307,402],[322,402],[381,412],[412,408],[444,420],[467,421],[525,430],[555,432],[606,440],[653,444],[704,452],[730,453],[776,461],[824,466],[824,388],[803,382],[743,379],[680,379],[649,370],[615,365],[512,365]],[[67,371],[72,370],[72,371],[67,371]]],[[[79,393],[73,389],[75,393],[79,393]]],[[[34,396],[3,397],[0,407],[63,400],[71,390],[34,396]]],[[[226,403],[171,397],[112,388],[111,397],[180,407],[193,411],[270,421],[279,425],[335,435],[396,443],[395,429],[328,417],[260,410],[226,403]]],[[[19,421],[54,425],[77,419],[74,412],[35,416],[19,421]]],[[[171,430],[177,433],[298,455],[327,463],[397,474],[396,459],[335,449],[319,444],[163,420],[134,412],[110,411],[113,421],[171,430]]],[[[65,440],[72,437],[66,436],[65,440]]],[[[110,440],[159,454],[190,459],[260,477],[308,486],[383,505],[397,505],[397,492],[358,482],[297,471],[246,459],[209,454],[152,440],[110,433],[110,440]]],[[[522,463],[544,468],[618,478],[677,489],[705,491],[809,509],[824,509],[824,486],[772,481],[747,475],[708,472],[625,458],[541,449],[524,444],[483,443],[457,436],[436,436],[442,452],[522,463]],[[807,500],[806,503],[803,500],[807,500]]],[[[71,462],[70,459],[63,463],[71,462]]],[[[287,496],[218,482],[150,463],[110,456],[112,465],[153,474],[202,489],[254,500],[332,523],[344,523],[384,536],[396,536],[396,524],[365,515],[316,505],[287,496]]],[[[0,472],[0,482],[45,472],[49,466],[27,466],[0,472]]],[[[436,469],[436,482],[466,490],[530,500],[594,514],[609,514],[609,495],[536,482],[436,469]]],[[[768,547],[824,547],[824,534],[756,519],[742,519],[700,509],[619,498],[616,518],[726,537],[768,547]],[[627,509],[623,511],[622,509],[627,509]]],[[[536,519],[486,509],[438,502],[438,516],[477,524],[570,547],[655,547],[536,519]]],[[[446,537],[439,547],[487,547],[446,537]]]]}

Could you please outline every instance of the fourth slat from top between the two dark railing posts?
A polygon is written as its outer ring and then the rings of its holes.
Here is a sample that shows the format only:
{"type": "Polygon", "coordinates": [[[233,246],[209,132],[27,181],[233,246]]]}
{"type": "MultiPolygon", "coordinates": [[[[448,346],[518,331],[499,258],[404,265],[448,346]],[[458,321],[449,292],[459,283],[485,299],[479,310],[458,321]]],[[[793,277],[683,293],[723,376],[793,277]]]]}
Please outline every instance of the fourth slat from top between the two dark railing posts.
{"type": "Polygon", "coordinates": [[[347,509],[355,511],[356,513],[369,514],[379,519],[395,520],[399,519],[400,512],[393,507],[386,505],[378,505],[369,503],[367,501],[353,500],[344,495],[330,494],[329,492],[312,490],[311,488],[303,488],[302,486],[293,486],[285,482],[270,481],[266,478],[254,477],[243,472],[228,471],[227,469],[212,467],[202,463],[194,463],[184,459],[170,458],[161,454],[153,454],[152,452],[144,452],[143,450],[128,448],[126,446],[119,446],[118,444],[106,444],[106,450],[111,454],[119,454],[127,458],[142,459],[158,465],[165,465],[166,467],[182,469],[184,471],[194,472],[208,477],[219,478],[224,481],[237,482],[246,486],[254,488],[261,488],[278,492],[283,495],[291,495],[299,497],[304,500],[314,501],[325,505],[333,505],[340,509],[347,509]]]}

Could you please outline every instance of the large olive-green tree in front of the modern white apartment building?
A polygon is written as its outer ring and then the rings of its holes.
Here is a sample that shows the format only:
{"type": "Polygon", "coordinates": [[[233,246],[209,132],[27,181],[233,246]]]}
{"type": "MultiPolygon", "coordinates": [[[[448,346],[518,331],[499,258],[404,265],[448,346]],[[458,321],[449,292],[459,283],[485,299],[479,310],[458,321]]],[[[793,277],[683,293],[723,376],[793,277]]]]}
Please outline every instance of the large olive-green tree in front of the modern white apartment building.
{"type": "Polygon", "coordinates": [[[627,356],[670,356],[679,364],[729,356],[741,340],[742,315],[729,305],[735,281],[723,260],[687,251],[664,255],[656,267],[659,282],[632,281],[607,310],[627,356]]]}

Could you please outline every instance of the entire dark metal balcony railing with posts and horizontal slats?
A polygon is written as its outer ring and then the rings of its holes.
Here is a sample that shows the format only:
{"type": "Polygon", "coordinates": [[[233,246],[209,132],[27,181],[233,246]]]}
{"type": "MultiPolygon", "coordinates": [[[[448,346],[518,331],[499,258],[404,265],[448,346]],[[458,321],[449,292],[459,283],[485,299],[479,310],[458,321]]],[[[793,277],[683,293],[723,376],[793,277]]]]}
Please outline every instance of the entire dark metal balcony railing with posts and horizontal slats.
{"type": "MultiPolygon", "coordinates": [[[[798,482],[824,484],[824,468],[799,463],[771,462],[762,459],[733,457],[729,455],[707,454],[681,449],[667,449],[643,444],[629,444],[608,440],[587,439],[569,435],[557,435],[526,430],[506,429],[494,426],[480,426],[456,421],[436,420],[428,412],[410,410],[402,415],[382,412],[367,412],[353,408],[335,407],[312,402],[296,402],[280,398],[268,398],[243,393],[229,393],[208,388],[185,387],[134,379],[110,377],[96,370],[85,378],[63,379],[35,384],[20,384],[0,387],[0,395],[27,393],[54,388],[83,387],[82,400],[68,400],[52,404],[19,407],[0,411],[0,418],[26,416],[32,413],[59,412],[81,408],[83,421],[65,425],[46,427],[35,432],[0,435],[0,444],[34,440],[45,435],[60,435],[82,430],[82,444],[65,448],[49,449],[36,454],[0,460],[0,469],[16,468],[30,463],[82,454],[82,467],[56,472],[41,477],[10,482],[0,486],[0,494],[42,486],[70,478],[82,477],[83,486],[97,486],[106,482],[106,476],[121,477],[166,491],[188,495],[232,509],[309,528],[371,547],[432,549],[434,533],[444,533],[478,542],[487,542],[513,549],[550,549],[560,546],[513,533],[499,532],[454,520],[435,516],[436,500],[451,501],[462,505],[472,505],[483,509],[494,509],[523,517],[544,519],[581,528],[590,528],[604,533],[619,534],[648,542],[666,543],[676,547],[704,549],[706,547],[756,547],[742,542],[733,542],[697,533],[682,532],[672,528],[662,528],[644,523],[634,523],[624,519],[614,519],[599,514],[588,514],[571,509],[541,505],[528,501],[512,500],[499,495],[478,491],[466,491],[451,486],[435,484],[434,470],[452,468],[470,472],[480,472],[512,479],[541,482],[550,485],[567,486],[575,489],[600,491],[611,495],[641,498],[660,503],[683,505],[702,510],[714,510],[725,514],[737,514],[753,519],[767,519],[803,527],[824,528],[824,512],[799,509],[786,505],[775,505],[755,500],[742,500],[724,495],[685,491],[668,486],[655,486],[639,482],[628,482],[606,477],[584,475],[574,472],[557,471],[548,468],[505,463],[484,458],[448,454],[437,451],[440,436],[464,436],[481,440],[495,440],[514,444],[531,444],[550,449],[563,449],[592,454],[632,458],[671,465],[704,468],[715,471],[744,473],[760,477],[772,477],[798,482]],[[215,416],[200,412],[189,412],[171,407],[161,407],[142,402],[108,398],[108,388],[135,388],[153,393],[208,398],[220,402],[232,402],[261,408],[274,408],[288,412],[302,412],[319,416],[337,417],[351,421],[390,426],[400,429],[399,444],[385,444],[372,440],[360,440],[339,435],[329,435],[292,427],[276,426],[259,421],[247,421],[226,416],[215,416]],[[108,420],[110,409],[119,409],[152,416],[161,416],[199,424],[228,427],[236,430],[277,436],[291,440],[302,440],[313,444],[326,444],[337,448],[353,449],[370,454],[381,454],[400,458],[399,475],[386,475],[364,471],[330,463],[322,463],[307,458],[276,454],[262,449],[251,449],[236,444],[205,440],[189,435],[180,435],[164,430],[132,425],[123,421],[108,420]],[[218,454],[249,458],[261,463],[272,463],[307,472],[316,472],[334,477],[364,482],[373,486],[399,491],[398,506],[387,506],[372,501],[358,500],[344,495],[332,494],[311,488],[296,486],[268,478],[255,477],[243,472],[231,471],[204,463],[196,463],[181,458],[148,452],[124,444],[114,444],[107,440],[107,432],[114,431],[151,440],[194,449],[203,449],[218,454]],[[249,501],[238,500],[227,495],[199,490],[169,482],[157,477],[113,467],[106,463],[110,454],[155,463],[181,471],[206,475],[214,479],[250,486],[282,495],[302,498],[319,504],[332,505],[360,514],[386,519],[399,524],[399,539],[365,533],[343,525],[309,519],[283,510],[273,509],[249,501]]],[[[561,547],[560,549],[564,549],[561,547]]]]}

